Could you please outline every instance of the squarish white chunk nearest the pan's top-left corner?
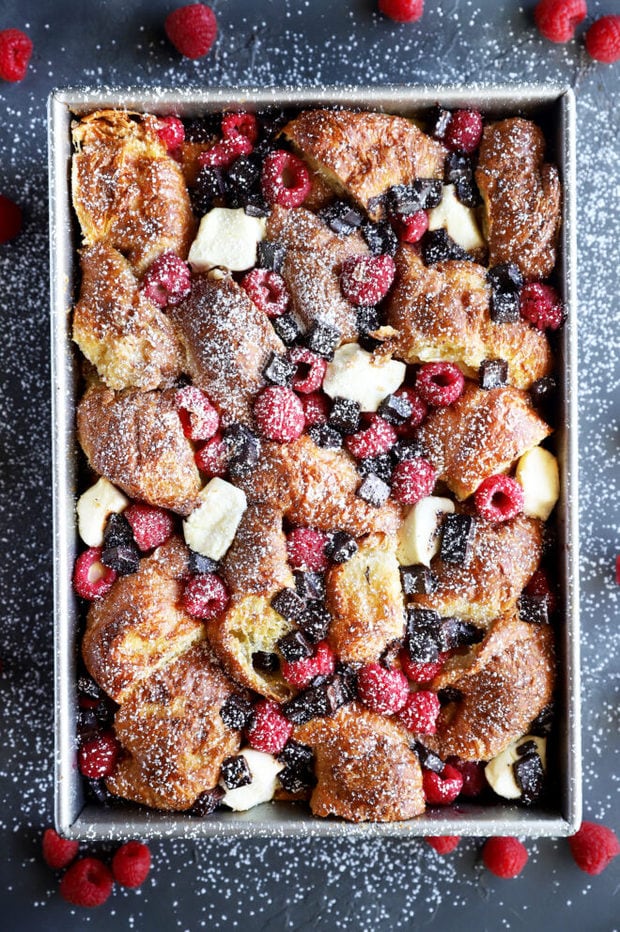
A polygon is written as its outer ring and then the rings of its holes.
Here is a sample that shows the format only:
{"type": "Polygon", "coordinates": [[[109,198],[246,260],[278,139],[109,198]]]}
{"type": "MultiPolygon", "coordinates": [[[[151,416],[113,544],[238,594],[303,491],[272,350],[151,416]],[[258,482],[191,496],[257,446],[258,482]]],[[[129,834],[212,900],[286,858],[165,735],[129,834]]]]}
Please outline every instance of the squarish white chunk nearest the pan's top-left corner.
{"type": "Polygon", "coordinates": [[[256,245],[265,236],[264,217],[248,217],[240,207],[214,207],[200,221],[188,262],[195,272],[223,266],[242,272],[256,265],[256,245]]]}

